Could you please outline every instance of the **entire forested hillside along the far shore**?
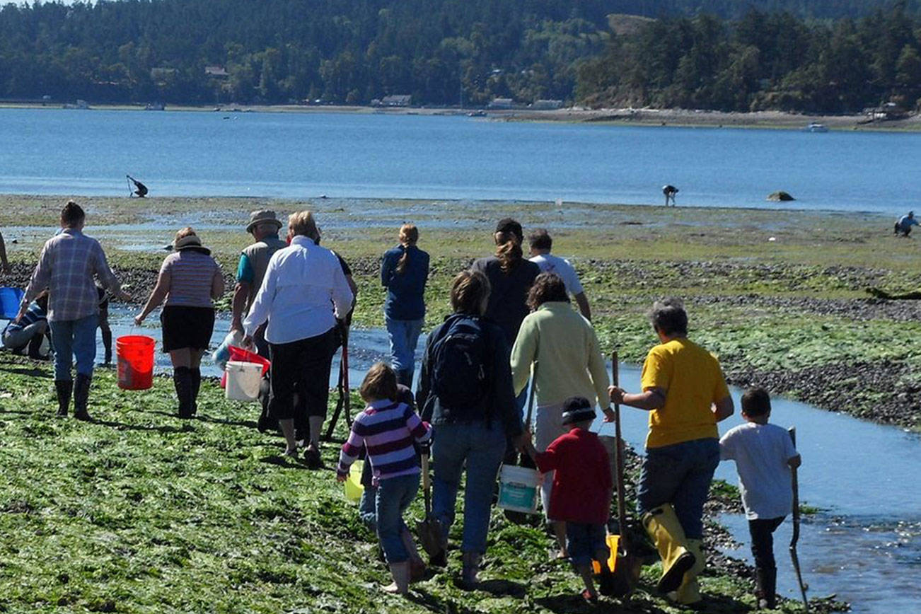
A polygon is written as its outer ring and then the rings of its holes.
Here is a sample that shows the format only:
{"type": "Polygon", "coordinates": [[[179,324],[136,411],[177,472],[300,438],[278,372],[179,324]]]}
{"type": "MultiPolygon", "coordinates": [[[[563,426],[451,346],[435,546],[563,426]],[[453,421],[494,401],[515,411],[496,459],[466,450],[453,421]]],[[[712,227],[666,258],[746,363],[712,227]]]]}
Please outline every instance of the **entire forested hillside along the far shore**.
{"type": "Polygon", "coordinates": [[[409,94],[429,105],[500,97],[837,111],[898,96],[914,104],[918,1],[886,9],[873,0],[6,4],[0,98],[367,104],[409,94]],[[742,6],[767,12],[740,15],[742,6]]]}

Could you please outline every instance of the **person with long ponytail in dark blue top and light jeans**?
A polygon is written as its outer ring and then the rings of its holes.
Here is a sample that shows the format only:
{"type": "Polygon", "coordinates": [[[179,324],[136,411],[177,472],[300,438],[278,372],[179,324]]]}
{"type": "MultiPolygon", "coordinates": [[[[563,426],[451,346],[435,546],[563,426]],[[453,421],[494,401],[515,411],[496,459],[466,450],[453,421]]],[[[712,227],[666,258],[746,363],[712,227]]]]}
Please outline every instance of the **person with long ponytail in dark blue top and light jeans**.
{"type": "Polygon", "coordinates": [[[388,249],[380,263],[380,283],[387,288],[384,321],[391,340],[391,364],[397,380],[413,387],[415,346],[426,319],[428,254],[415,247],[419,229],[400,226],[400,245],[388,249]]]}

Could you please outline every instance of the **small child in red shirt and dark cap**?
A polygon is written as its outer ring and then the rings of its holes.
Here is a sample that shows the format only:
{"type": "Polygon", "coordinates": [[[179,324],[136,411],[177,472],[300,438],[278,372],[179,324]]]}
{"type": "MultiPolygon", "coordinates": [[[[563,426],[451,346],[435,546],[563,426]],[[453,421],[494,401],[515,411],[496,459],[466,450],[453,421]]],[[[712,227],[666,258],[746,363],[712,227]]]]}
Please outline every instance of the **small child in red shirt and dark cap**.
{"type": "MultiPolygon", "coordinates": [[[[543,452],[530,439],[525,443],[537,468],[554,476],[549,516],[565,522],[569,562],[582,578],[585,590],[581,595],[589,602],[598,599],[591,562],[607,561],[611,555],[605,539],[613,488],[608,452],[598,434],[590,430],[596,415],[593,405],[585,397],[566,399],[561,423],[569,432],[555,438],[543,452]]],[[[601,592],[609,593],[612,583],[611,569],[601,565],[601,592]]]]}

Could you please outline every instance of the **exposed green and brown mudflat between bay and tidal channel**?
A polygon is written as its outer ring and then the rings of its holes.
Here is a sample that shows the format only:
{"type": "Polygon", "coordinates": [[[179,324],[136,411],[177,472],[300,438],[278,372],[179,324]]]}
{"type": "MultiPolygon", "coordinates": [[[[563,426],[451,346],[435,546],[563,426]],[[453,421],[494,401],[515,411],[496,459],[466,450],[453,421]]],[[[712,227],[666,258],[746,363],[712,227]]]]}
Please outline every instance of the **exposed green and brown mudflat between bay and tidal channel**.
{"type": "MultiPolygon", "coordinates": [[[[14,262],[7,284],[25,284],[49,237],[60,197],[3,196],[0,228],[14,262]],[[15,244],[10,244],[15,240],[15,244]]],[[[113,266],[146,298],[164,246],[193,226],[227,273],[250,237],[253,209],[285,215],[312,209],[323,245],[350,262],[359,285],[356,323],[383,326],[379,257],[403,222],[420,228],[432,256],[426,329],[448,312],[451,277],[495,249],[504,216],[525,232],[546,227],[554,253],[576,266],[606,351],[641,363],[655,342],[646,310],[679,296],[691,337],[716,353],[730,382],[764,385],[880,423],[921,430],[921,301],[881,300],[921,288],[921,245],[895,237],[892,217],[764,209],[587,203],[296,200],[246,198],[79,198],[87,233],[99,237],[113,266]]],[[[795,203],[793,203],[795,204],[795,203]]],[[[229,284],[228,287],[232,287],[229,284]]],[[[229,305],[228,294],[220,303],[229,305]]]]}

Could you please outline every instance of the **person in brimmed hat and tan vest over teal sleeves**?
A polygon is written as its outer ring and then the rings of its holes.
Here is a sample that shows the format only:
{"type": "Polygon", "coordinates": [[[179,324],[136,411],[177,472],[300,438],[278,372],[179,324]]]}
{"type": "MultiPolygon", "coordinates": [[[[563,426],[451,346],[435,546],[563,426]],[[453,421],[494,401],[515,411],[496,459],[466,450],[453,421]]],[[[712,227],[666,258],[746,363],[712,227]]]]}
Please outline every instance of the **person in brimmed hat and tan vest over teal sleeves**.
{"type": "MultiPolygon", "coordinates": [[[[278,237],[282,223],[274,211],[262,209],[250,214],[246,231],[252,235],[252,245],[244,248],[237,265],[237,284],[233,289],[230,330],[243,332],[243,319],[250,314],[256,293],[262,287],[269,260],[279,249],[287,247],[286,241],[278,237]]],[[[265,325],[256,329],[252,337],[256,352],[268,358],[269,344],[265,341],[265,325]]]]}

